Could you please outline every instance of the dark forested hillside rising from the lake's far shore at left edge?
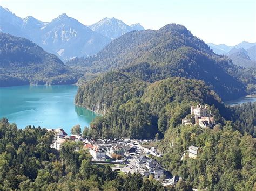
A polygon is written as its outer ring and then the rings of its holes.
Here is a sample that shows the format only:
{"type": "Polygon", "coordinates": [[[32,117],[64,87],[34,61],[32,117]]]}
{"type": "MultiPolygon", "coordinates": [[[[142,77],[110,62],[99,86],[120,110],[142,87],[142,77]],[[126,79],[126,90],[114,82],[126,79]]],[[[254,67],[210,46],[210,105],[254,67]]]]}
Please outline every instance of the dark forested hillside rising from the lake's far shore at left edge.
{"type": "Polygon", "coordinates": [[[0,86],[71,84],[79,77],[57,56],[28,39],[5,33],[0,33],[0,58],[0,86]]]}

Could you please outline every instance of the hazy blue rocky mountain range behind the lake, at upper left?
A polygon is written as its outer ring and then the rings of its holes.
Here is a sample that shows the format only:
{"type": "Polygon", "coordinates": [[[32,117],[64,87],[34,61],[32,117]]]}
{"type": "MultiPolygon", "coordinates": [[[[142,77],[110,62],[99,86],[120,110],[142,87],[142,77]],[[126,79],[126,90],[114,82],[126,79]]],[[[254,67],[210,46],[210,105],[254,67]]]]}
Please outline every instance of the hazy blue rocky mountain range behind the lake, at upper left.
{"type": "Polygon", "coordinates": [[[17,17],[0,6],[0,32],[28,38],[64,61],[94,55],[113,38],[132,30],[144,29],[138,23],[128,26],[116,18],[85,26],[65,13],[51,22],[42,22],[32,16],[17,17]]]}

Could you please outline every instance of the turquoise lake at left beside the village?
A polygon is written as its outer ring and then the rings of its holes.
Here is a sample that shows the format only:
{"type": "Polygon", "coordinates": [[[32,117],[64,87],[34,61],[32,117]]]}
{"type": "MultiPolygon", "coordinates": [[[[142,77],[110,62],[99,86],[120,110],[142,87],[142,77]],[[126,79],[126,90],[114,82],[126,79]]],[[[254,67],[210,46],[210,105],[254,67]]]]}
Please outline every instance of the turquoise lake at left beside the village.
{"type": "Polygon", "coordinates": [[[89,126],[97,115],[74,104],[78,87],[67,86],[15,86],[0,88],[0,118],[8,118],[18,128],[27,125],[41,128],[70,129],[79,124],[89,126]]]}

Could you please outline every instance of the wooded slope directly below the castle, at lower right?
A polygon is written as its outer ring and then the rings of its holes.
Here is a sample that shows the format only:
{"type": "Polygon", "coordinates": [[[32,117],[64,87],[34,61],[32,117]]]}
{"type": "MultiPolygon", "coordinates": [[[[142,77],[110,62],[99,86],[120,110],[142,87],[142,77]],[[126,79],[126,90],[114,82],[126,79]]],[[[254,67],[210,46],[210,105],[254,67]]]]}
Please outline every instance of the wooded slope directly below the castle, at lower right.
{"type": "Polygon", "coordinates": [[[158,160],[199,190],[254,190],[255,146],[255,138],[242,135],[230,121],[213,129],[181,125],[165,133],[158,146],[165,154],[158,160]],[[191,145],[199,147],[196,159],[188,158],[191,145]]]}

